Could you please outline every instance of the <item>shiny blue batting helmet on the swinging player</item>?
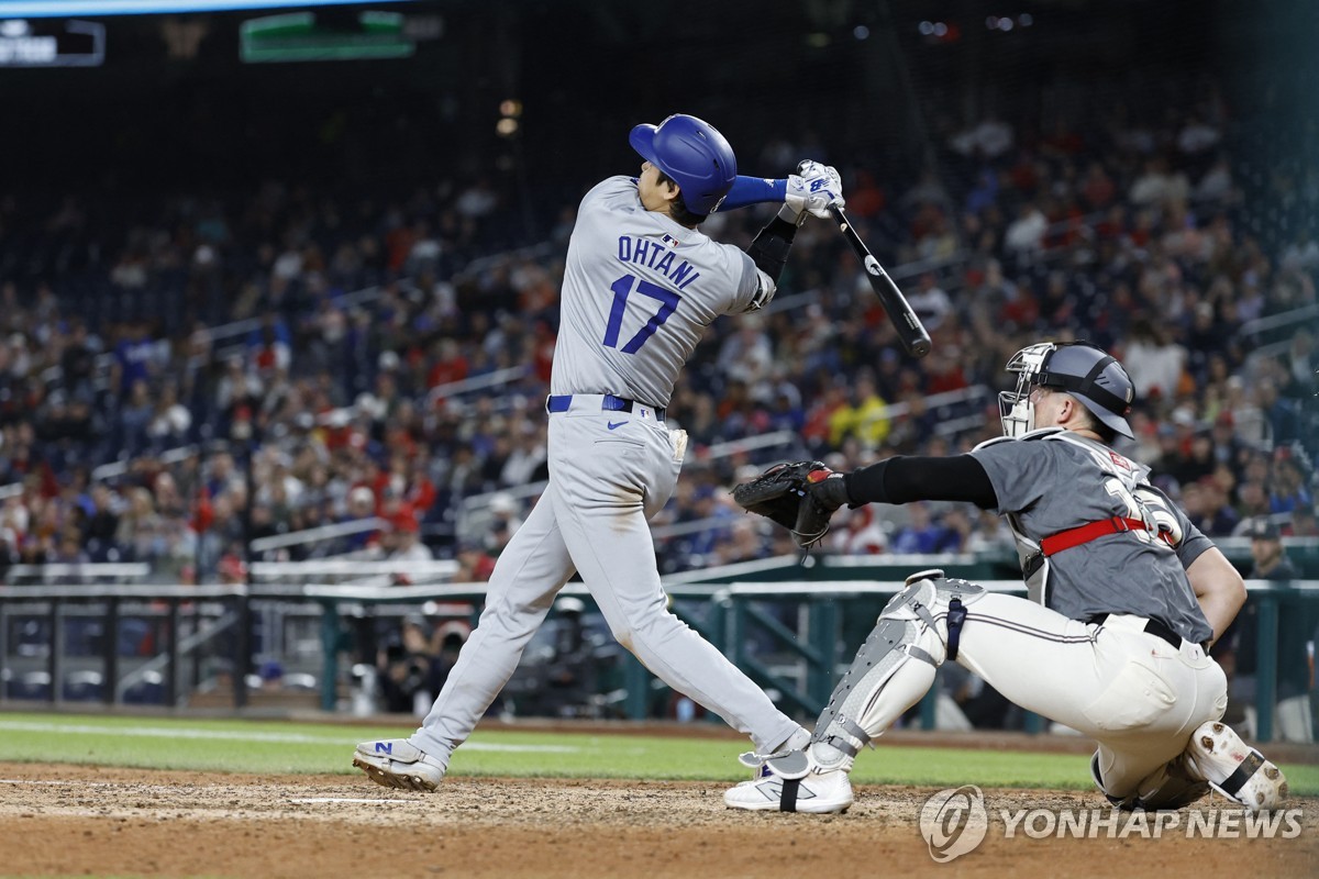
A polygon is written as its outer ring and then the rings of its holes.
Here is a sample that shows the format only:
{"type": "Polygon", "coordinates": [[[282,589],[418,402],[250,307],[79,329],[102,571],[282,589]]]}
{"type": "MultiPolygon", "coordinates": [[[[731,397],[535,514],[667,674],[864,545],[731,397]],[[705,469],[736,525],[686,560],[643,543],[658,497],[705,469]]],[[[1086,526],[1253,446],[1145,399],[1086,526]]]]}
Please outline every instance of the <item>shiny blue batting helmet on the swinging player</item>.
{"type": "Polygon", "coordinates": [[[660,125],[637,125],[632,149],[673,178],[692,213],[712,213],[737,177],[737,158],[724,136],[695,116],[677,113],[660,125]]]}

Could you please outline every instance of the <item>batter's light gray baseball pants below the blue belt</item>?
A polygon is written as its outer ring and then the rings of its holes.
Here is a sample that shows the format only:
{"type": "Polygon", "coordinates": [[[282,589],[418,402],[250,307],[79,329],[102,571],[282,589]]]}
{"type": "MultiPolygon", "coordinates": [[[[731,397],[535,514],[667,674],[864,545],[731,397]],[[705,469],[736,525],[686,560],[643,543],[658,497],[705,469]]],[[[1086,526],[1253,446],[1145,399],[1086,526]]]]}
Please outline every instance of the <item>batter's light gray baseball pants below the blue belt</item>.
{"type": "Polygon", "coordinates": [[[686,434],[666,430],[653,410],[603,411],[600,401],[575,394],[567,411],[550,415],[545,494],[500,555],[477,626],[409,739],[446,766],[574,571],[620,644],[665,684],[751,735],[757,751],[801,729],[667,609],[648,521],[673,494],[686,434]]]}

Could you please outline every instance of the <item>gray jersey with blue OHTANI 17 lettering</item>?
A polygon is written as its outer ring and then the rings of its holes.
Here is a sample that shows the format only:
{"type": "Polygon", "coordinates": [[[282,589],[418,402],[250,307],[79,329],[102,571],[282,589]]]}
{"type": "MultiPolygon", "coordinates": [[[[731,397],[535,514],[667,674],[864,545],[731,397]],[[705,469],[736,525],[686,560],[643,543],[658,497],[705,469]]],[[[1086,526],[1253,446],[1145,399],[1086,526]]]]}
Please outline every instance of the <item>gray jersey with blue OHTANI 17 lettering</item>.
{"type": "Polygon", "coordinates": [[[744,250],[645,210],[636,179],[611,177],[582,199],[568,241],[550,393],[667,406],[706,327],[773,293],[744,250]]]}

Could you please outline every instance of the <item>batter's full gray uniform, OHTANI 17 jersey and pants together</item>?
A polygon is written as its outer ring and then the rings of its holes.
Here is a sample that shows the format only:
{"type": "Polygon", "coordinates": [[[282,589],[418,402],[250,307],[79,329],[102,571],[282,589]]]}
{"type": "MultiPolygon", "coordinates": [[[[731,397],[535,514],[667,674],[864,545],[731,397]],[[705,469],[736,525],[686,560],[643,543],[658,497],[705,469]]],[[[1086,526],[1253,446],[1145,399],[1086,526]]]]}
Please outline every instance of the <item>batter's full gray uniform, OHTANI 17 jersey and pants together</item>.
{"type": "MultiPolygon", "coordinates": [[[[517,667],[559,589],[578,573],[619,642],[757,750],[799,725],[667,608],[648,521],[673,494],[687,435],[657,411],[706,326],[774,285],[743,250],[646,211],[613,177],[582,200],[568,244],[550,380],[550,480],[500,553],[485,610],[409,743],[441,764],[517,667]],[[600,394],[645,406],[605,409],[600,394]]],[[[802,734],[805,735],[805,733],[802,734]]]]}

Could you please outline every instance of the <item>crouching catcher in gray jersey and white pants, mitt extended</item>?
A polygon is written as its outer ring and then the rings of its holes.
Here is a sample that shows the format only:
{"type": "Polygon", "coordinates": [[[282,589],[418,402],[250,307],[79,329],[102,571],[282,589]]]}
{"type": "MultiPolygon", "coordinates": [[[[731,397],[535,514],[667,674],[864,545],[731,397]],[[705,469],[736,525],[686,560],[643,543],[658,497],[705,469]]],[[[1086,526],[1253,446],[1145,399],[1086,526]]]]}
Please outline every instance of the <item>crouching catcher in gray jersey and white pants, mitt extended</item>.
{"type": "Polygon", "coordinates": [[[1186,514],[1111,448],[1132,436],[1132,381],[1087,344],[1008,362],[1005,436],[952,457],[892,457],[851,473],[818,461],[737,486],[748,509],[811,546],[842,505],[969,501],[1006,517],[1030,600],[925,571],[907,577],[857,651],[805,750],[748,755],[736,809],[842,812],[856,752],[955,660],[1022,708],[1099,743],[1091,774],[1125,809],[1177,809],[1212,788],[1246,809],[1287,793],[1278,767],[1220,722],[1208,656],[1245,600],[1240,575],[1186,514]]]}

